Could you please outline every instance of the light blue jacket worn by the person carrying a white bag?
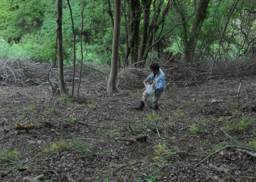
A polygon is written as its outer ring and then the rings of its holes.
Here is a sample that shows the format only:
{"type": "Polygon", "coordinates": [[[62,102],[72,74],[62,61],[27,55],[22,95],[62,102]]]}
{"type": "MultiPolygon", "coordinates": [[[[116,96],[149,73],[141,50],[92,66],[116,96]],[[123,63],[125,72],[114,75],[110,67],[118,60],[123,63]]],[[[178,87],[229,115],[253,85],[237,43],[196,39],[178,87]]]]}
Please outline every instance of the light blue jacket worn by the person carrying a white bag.
{"type": "Polygon", "coordinates": [[[159,69],[158,74],[151,73],[148,75],[147,80],[152,80],[156,88],[155,95],[160,95],[163,93],[165,88],[165,75],[161,69],[159,69]]]}

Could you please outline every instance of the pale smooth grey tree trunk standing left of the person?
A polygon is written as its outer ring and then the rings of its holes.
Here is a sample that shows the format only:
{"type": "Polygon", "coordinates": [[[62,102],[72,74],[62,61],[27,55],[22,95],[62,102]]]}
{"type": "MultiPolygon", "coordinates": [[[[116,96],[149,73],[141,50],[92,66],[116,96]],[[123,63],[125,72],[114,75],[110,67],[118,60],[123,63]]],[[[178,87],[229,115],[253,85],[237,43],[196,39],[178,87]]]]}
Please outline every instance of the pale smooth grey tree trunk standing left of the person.
{"type": "Polygon", "coordinates": [[[118,48],[120,36],[120,22],[121,22],[121,0],[115,0],[115,19],[114,19],[114,32],[112,41],[112,58],[111,58],[111,71],[108,82],[108,92],[116,91],[116,80],[118,73],[118,48]]]}

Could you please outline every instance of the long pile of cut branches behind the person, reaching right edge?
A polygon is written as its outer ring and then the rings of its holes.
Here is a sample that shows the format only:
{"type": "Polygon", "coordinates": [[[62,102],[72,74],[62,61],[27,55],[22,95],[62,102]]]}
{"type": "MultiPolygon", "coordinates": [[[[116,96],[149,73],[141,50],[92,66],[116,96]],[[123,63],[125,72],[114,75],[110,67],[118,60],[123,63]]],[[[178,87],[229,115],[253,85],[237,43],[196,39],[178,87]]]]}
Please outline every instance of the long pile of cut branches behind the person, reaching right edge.
{"type": "MultiPolygon", "coordinates": [[[[216,64],[211,76],[210,62],[175,62],[160,64],[160,68],[165,74],[166,84],[196,85],[209,79],[253,75],[256,70],[256,61],[222,61],[216,64]]],[[[125,89],[142,88],[143,80],[150,73],[150,69],[127,67],[118,73],[117,86],[125,89]]]]}

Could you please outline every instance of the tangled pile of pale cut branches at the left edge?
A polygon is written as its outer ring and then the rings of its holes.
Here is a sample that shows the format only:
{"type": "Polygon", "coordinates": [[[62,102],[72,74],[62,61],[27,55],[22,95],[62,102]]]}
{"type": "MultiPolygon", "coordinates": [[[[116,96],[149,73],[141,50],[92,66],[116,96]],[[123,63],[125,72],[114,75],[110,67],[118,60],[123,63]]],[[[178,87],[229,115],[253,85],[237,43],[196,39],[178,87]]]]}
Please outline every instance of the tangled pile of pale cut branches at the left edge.
{"type": "MultiPolygon", "coordinates": [[[[48,72],[51,64],[28,61],[0,60],[0,86],[30,86],[48,84],[48,72]]],[[[65,80],[71,82],[72,67],[64,67],[65,80]]],[[[85,74],[83,72],[83,74],[85,74]]],[[[78,73],[76,73],[78,75],[78,73]]],[[[83,75],[82,75],[83,76],[83,75]]],[[[51,69],[50,80],[58,83],[58,67],[51,69]]],[[[78,78],[75,78],[78,81],[78,78]]]]}

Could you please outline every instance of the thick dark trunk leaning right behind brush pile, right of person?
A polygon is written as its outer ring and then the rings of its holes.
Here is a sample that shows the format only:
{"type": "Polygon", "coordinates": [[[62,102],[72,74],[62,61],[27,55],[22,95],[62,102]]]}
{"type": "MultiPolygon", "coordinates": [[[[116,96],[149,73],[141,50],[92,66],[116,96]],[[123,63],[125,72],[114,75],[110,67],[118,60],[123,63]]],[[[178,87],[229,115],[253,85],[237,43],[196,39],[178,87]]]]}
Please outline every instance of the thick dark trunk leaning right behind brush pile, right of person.
{"type": "Polygon", "coordinates": [[[198,36],[200,34],[201,27],[203,25],[203,22],[206,16],[206,11],[207,11],[209,2],[210,2],[209,0],[200,0],[196,10],[195,19],[192,24],[189,41],[187,43],[184,42],[185,60],[187,62],[193,62],[194,60],[198,36]]]}

